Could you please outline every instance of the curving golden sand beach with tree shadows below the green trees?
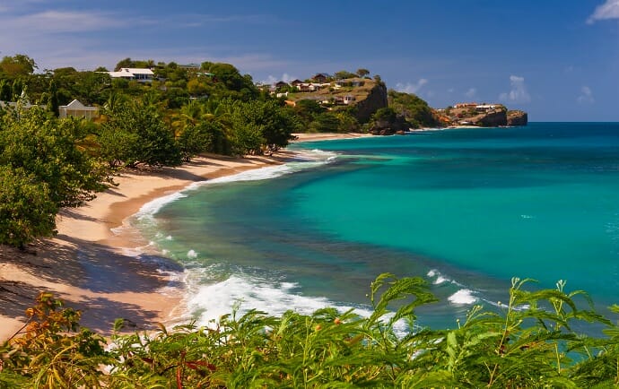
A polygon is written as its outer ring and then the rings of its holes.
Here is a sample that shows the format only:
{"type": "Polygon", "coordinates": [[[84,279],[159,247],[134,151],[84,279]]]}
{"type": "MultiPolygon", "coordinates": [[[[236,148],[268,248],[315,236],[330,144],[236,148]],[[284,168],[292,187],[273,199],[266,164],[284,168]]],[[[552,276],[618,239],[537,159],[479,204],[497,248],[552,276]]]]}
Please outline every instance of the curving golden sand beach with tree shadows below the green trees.
{"type": "Polygon", "coordinates": [[[81,310],[83,326],[105,335],[117,318],[126,320],[128,331],[179,320],[183,282],[170,273],[182,269],[157,253],[144,253],[140,247],[148,242],[124,226],[125,220],[144,203],[194,182],[290,158],[289,151],[268,158],[209,155],[179,168],[125,170],[114,177],[117,186],[82,207],[60,212],[56,237],[42,239],[26,252],[0,246],[0,341],[22,328],[25,309],[42,291],[63,299],[65,307],[81,310]],[[118,228],[121,233],[114,232],[118,228]]]}

